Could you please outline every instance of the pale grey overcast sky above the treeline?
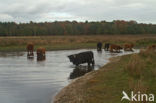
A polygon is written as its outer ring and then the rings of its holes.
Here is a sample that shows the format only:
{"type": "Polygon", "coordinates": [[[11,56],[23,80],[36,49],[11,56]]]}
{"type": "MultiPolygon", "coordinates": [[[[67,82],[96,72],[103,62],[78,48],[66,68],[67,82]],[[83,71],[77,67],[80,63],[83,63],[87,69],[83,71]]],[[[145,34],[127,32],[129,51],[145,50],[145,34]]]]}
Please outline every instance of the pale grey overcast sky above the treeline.
{"type": "Polygon", "coordinates": [[[156,0],[0,0],[0,21],[117,19],[156,24],[156,0]]]}

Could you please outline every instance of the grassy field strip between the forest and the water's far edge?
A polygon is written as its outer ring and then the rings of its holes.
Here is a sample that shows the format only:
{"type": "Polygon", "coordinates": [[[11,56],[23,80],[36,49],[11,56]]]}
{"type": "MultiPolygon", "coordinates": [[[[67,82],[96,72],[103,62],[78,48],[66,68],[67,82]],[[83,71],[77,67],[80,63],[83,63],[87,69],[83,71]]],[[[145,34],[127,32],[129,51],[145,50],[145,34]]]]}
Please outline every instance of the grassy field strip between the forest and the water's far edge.
{"type": "Polygon", "coordinates": [[[0,51],[25,51],[29,42],[34,43],[35,48],[42,46],[47,50],[96,48],[96,43],[99,41],[120,45],[134,43],[135,47],[144,47],[154,44],[156,35],[0,37],[0,51]]]}

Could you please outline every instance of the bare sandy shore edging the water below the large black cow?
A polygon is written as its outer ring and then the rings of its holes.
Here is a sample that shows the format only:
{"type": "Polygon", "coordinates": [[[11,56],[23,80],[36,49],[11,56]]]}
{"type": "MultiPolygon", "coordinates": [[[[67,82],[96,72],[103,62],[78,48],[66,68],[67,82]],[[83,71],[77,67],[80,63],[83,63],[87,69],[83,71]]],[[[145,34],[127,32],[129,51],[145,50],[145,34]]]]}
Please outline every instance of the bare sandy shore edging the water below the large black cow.
{"type": "Polygon", "coordinates": [[[92,71],[86,75],[73,80],[68,86],[63,88],[54,98],[51,103],[82,103],[85,98],[84,85],[96,75],[97,71],[92,71]],[[83,86],[83,88],[82,88],[83,86]]]}

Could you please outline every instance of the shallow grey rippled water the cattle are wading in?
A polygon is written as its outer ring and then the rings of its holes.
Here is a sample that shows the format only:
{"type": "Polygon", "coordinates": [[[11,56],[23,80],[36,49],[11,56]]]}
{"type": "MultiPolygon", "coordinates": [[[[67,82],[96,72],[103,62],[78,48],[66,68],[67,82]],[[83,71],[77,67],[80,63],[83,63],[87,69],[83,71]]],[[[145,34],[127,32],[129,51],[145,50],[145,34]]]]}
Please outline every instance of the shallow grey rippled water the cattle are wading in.
{"type": "MultiPolygon", "coordinates": [[[[26,52],[0,53],[0,103],[50,103],[56,93],[70,83],[68,78],[75,66],[67,56],[82,51],[88,50],[47,52],[43,62],[27,59],[26,52]]],[[[95,70],[110,57],[131,53],[91,51],[94,52],[95,70]]]]}

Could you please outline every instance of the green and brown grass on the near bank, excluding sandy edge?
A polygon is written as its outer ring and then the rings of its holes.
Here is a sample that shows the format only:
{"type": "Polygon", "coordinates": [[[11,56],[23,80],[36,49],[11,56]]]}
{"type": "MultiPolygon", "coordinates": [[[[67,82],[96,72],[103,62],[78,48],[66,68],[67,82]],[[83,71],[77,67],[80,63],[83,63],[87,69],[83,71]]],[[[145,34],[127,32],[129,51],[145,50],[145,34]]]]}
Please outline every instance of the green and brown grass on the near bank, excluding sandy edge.
{"type": "Polygon", "coordinates": [[[85,84],[85,103],[120,103],[123,90],[156,94],[155,61],[156,52],[142,51],[109,63],[85,84]]]}

